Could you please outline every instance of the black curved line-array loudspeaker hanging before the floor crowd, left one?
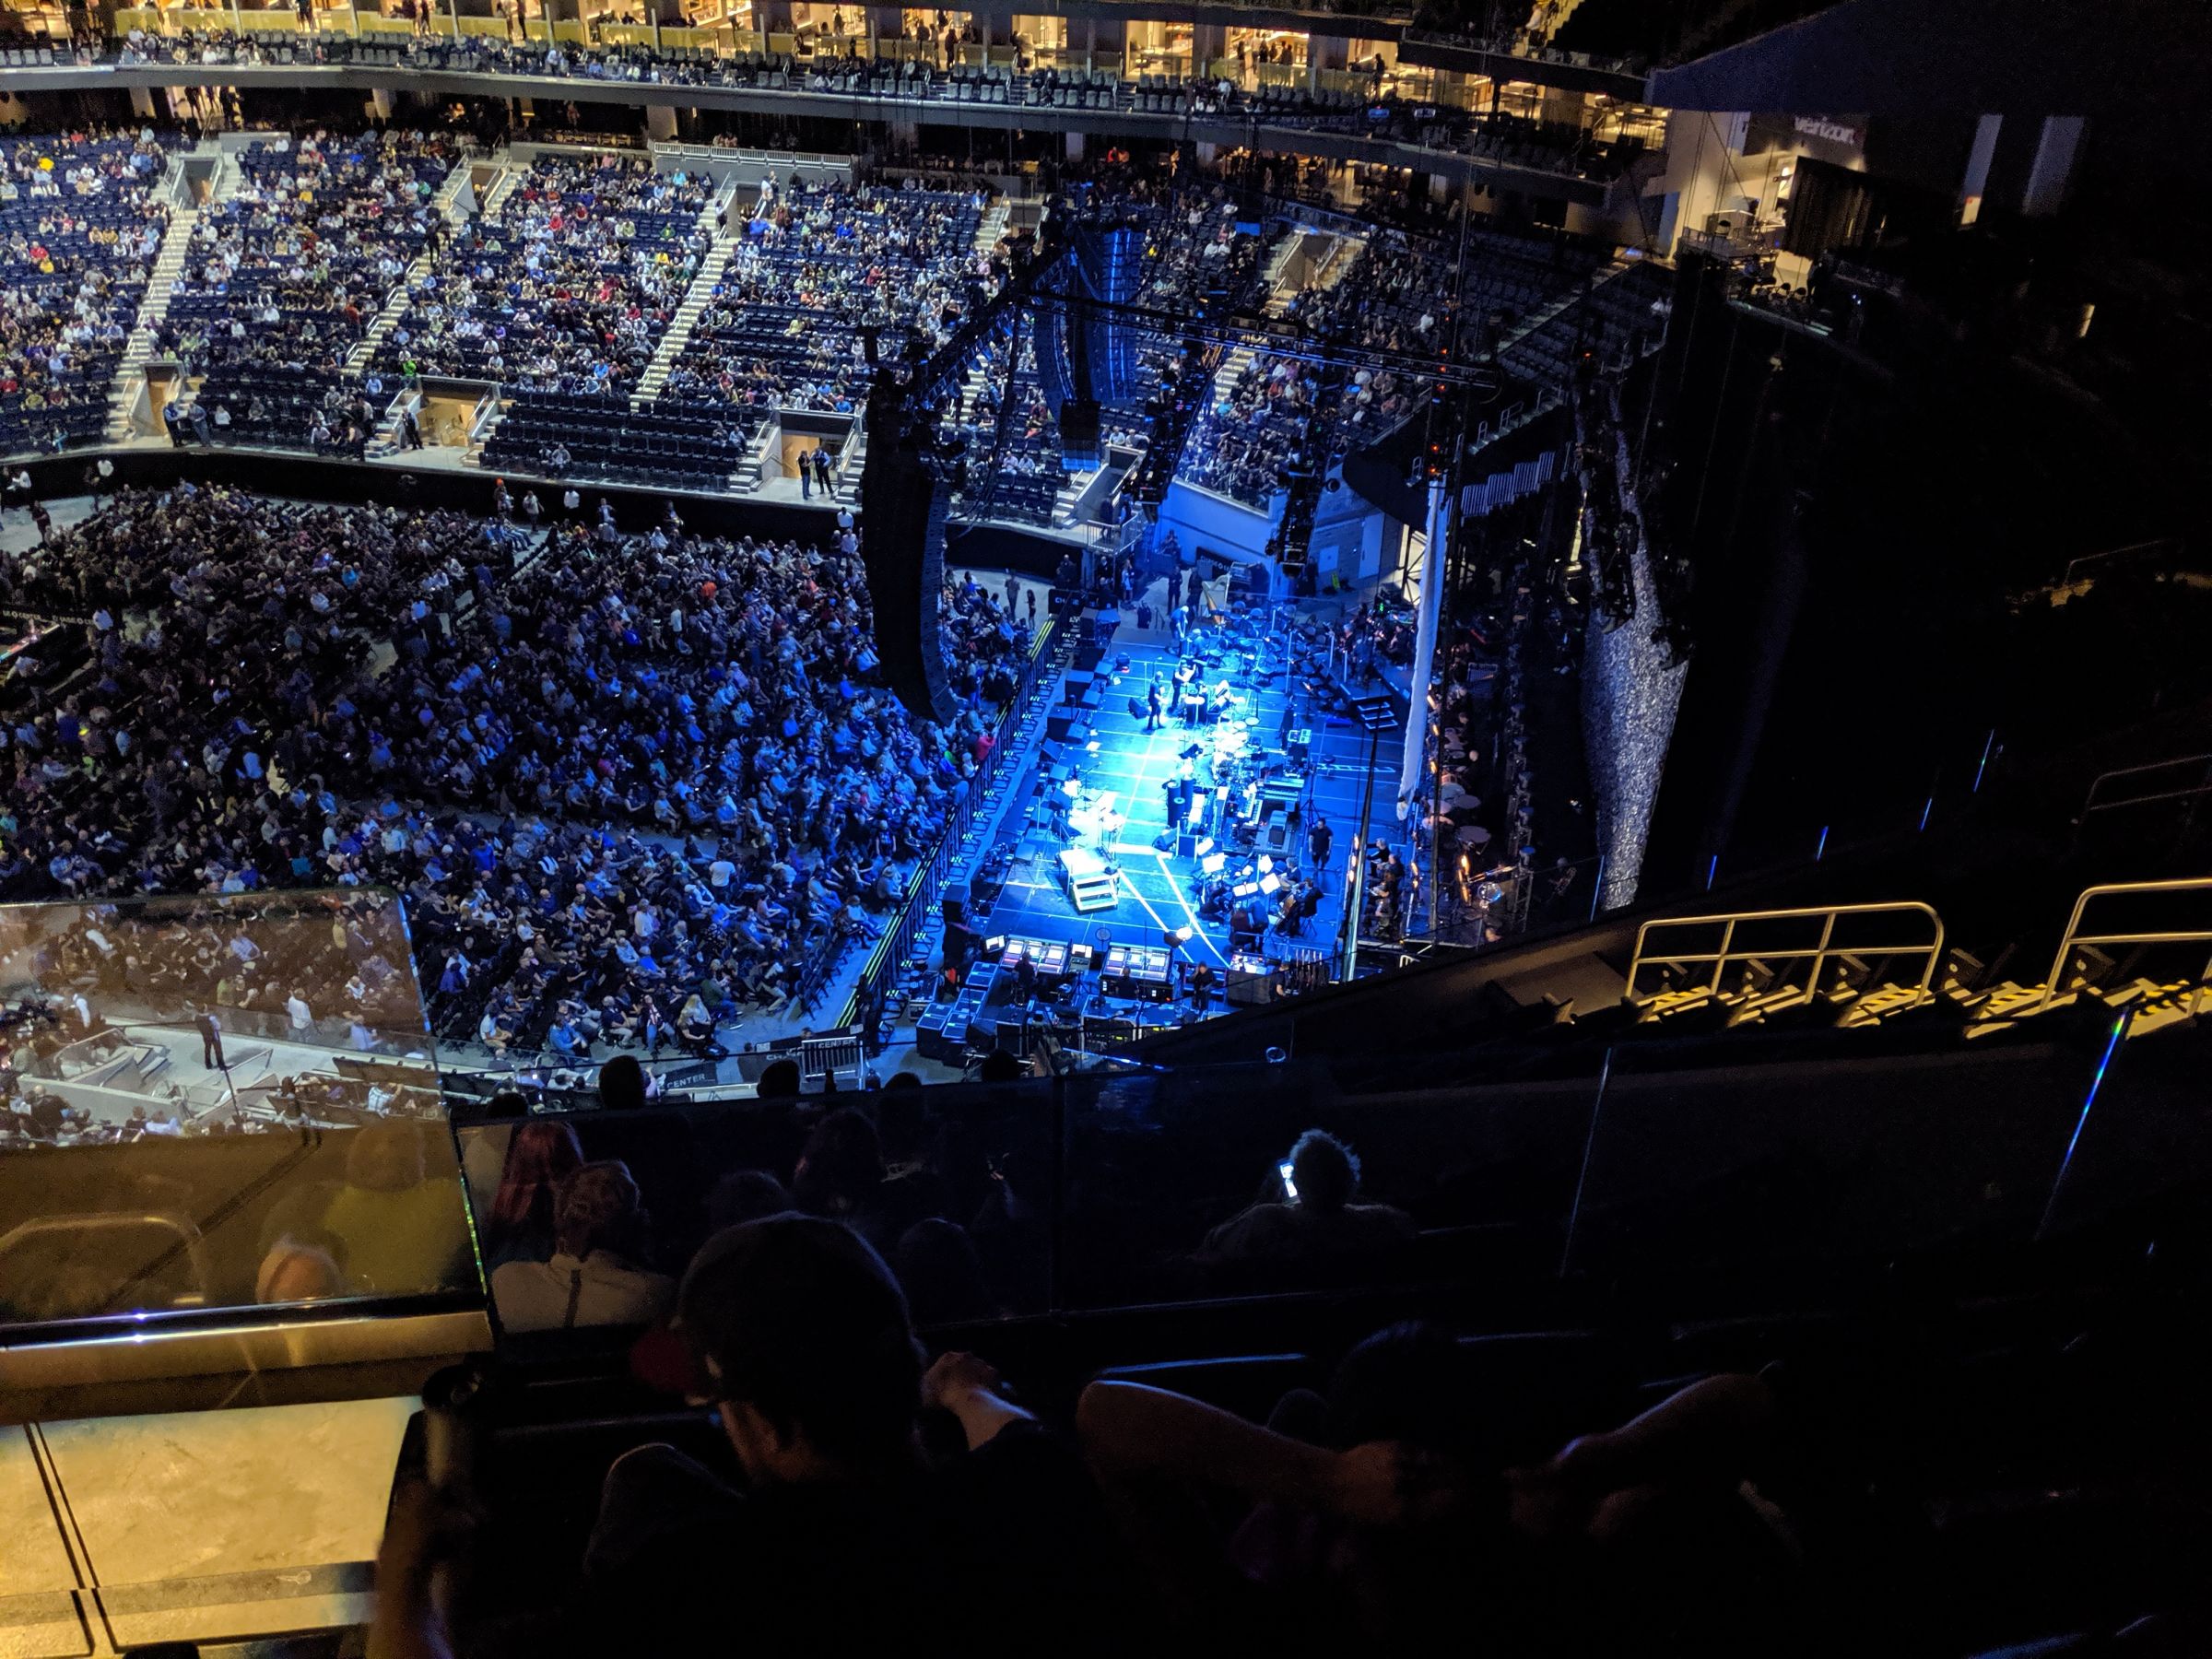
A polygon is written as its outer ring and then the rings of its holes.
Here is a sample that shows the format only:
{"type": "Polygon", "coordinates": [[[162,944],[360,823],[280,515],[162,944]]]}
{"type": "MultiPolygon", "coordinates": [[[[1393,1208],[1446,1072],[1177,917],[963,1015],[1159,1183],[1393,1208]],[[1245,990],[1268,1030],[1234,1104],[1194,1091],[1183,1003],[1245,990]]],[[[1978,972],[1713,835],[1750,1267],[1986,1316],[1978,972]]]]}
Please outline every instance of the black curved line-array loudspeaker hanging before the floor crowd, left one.
{"type": "MultiPolygon", "coordinates": [[[[914,714],[953,717],[945,684],[945,635],[938,604],[945,593],[945,482],[922,465],[916,429],[902,431],[898,396],[869,400],[872,434],[902,434],[869,449],[860,473],[860,564],[876,611],[876,650],[883,679],[914,714]]],[[[874,442],[874,440],[872,440],[874,442]]]]}

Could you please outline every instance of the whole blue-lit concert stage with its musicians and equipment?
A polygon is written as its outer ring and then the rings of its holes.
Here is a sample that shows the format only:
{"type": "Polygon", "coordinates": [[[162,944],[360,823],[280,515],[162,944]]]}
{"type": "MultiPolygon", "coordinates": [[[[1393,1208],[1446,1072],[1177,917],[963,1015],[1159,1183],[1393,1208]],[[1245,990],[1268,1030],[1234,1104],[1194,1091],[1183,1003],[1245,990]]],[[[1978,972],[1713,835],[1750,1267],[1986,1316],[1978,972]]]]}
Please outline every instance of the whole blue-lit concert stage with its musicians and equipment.
{"type": "MultiPolygon", "coordinates": [[[[978,867],[949,889],[964,938],[947,927],[945,960],[962,993],[925,1015],[925,1057],[1020,1040],[1022,956],[1035,962],[1029,1026],[1055,1029],[1066,1046],[1192,1018],[1188,980],[1201,964],[1208,1015],[1334,978],[1369,739],[1287,619],[1283,611],[1270,628],[1254,611],[1199,628],[1188,648],[1161,628],[1075,622],[1093,644],[1037,750],[1020,757],[978,867]],[[1203,688],[1201,703],[1181,706],[1179,670],[1203,688]],[[1148,730],[1155,679],[1164,712],[1148,730]],[[1186,792],[1170,792],[1186,763],[1186,792]],[[1316,818],[1332,834],[1325,865],[1312,856],[1316,818]],[[1310,891],[1307,914],[1285,918],[1287,891],[1310,891]],[[1239,918],[1239,905],[1259,909],[1239,918]]],[[[1383,737],[1371,838],[1402,845],[1398,745],[1383,737]]]]}

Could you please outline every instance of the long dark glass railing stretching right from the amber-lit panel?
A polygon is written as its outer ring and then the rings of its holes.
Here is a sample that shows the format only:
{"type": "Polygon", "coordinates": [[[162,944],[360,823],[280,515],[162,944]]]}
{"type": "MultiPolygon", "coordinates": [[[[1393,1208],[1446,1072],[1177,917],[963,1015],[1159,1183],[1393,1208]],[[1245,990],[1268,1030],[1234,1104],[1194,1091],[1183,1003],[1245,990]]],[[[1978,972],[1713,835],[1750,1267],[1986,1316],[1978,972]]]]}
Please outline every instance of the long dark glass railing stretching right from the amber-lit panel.
{"type": "Polygon", "coordinates": [[[2212,1177],[2177,1086],[2203,1037],[2117,1057],[2095,1037],[1801,1031],[1686,1057],[1559,1029],[1482,1066],[1440,1053],[1433,1077],[1398,1057],[1387,1091],[1356,1062],[1130,1066],[465,1113],[456,1133],[509,1334],[650,1323],[710,1232],[785,1208],[849,1221],[922,1325],[1378,1287],[1787,1292],[1960,1243],[2031,1248],[2212,1177]],[[1310,1130],[1358,1157],[1356,1183],[1310,1130]],[[571,1172],[613,1164],[593,1270],[555,1203],[571,1172]]]}

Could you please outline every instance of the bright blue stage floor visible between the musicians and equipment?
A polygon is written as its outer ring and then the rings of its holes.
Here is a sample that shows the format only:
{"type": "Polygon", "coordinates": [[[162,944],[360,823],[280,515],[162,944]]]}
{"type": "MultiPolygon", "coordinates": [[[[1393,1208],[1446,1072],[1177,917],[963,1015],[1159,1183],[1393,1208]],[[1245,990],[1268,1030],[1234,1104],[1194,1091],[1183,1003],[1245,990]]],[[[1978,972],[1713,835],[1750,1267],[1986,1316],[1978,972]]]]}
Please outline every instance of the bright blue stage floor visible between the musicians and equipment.
{"type": "MultiPolygon", "coordinates": [[[[1091,622],[1084,619],[1079,626],[1088,628],[1091,622]]],[[[1358,834],[1360,790],[1367,781],[1367,734],[1349,714],[1332,714],[1314,706],[1314,699],[1287,672],[1287,653],[1281,641],[1241,637],[1225,628],[1206,630],[1199,641],[1221,659],[1208,666],[1206,681],[1228,679],[1237,690],[1239,701],[1230,717],[1248,721],[1252,745],[1263,752],[1276,750],[1285,730],[1312,732],[1298,825],[1274,867],[1285,878],[1290,872],[1314,876],[1321,887],[1321,907],[1292,936],[1270,929],[1263,953],[1274,960],[1334,953],[1340,945],[1345,860],[1358,834]],[[1256,653],[1250,646],[1256,646],[1256,653]],[[1332,830],[1325,869],[1314,869],[1307,843],[1316,816],[1332,830]]],[[[1210,1013],[1225,1013],[1221,987],[1228,980],[1230,960],[1228,920],[1199,914],[1199,894],[1206,880],[1199,858],[1177,856],[1172,843],[1166,852],[1155,847],[1155,838],[1168,823],[1164,785],[1177,776],[1183,750],[1192,743],[1206,743],[1208,757],[1199,761],[1199,781],[1206,783],[1212,776],[1206,763],[1212,748],[1212,723],[1201,721],[1197,728],[1186,728],[1179,719],[1170,719],[1159,730],[1148,732],[1144,714],[1130,712],[1130,699],[1137,699],[1141,708],[1146,686],[1155,675],[1172,686],[1181,657],[1175,639],[1161,630],[1139,630],[1128,622],[1115,630],[1104,661],[1093,670],[1099,688],[1095,710],[1086,721],[1077,721],[1068,739],[1040,739],[1040,752],[1020,759],[1020,783],[993,836],[993,843],[1013,847],[1013,865],[998,900],[987,914],[973,918],[973,925],[984,938],[1088,942],[1099,958],[1104,958],[1108,942],[1159,945],[1161,933],[1190,927],[1192,938],[1181,947],[1179,960],[1208,962],[1214,969],[1217,991],[1210,1013]],[[1068,898],[1060,867],[1060,852],[1068,843],[1053,832],[1048,796],[1037,787],[1040,772],[1048,763],[1046,754],[1057,754],[1086,792],[1110,794],[1113,810],[1124,814],[1119,832],[1110,838],[1082,836],[1079,841],[1119,867],[1113,909],[1077,914],[1068,898]]],[[[1394,763],[1398,748],[1400,737],[1385,732],[1376,763],[1371,838],[1396,838],[1394,763]]],[[[1250,856],[1234,854],[1228,838],[1223,838],[1221,849],[1230,852],[1232,869],[1250,856]]],[[[1113,1000],[1106,1011],[1159,1022],[1188,1018],[1190,1006],[1181,998],[1166,1006],[1113,1000]]]]}

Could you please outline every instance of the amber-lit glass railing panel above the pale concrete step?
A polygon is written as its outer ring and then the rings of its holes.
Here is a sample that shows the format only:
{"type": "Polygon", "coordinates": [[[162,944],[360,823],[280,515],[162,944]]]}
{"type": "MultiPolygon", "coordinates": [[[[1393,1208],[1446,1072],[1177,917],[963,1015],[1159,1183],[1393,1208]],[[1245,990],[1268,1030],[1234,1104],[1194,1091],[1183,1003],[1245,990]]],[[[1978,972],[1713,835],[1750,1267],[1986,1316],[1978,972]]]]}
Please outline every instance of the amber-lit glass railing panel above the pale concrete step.
{"type": "Polygon", "coordinates": [[[480,1283],[392,894],[4,907],[0,1044],[0,1325],[480,1283]]]}

